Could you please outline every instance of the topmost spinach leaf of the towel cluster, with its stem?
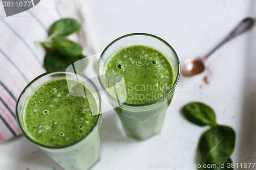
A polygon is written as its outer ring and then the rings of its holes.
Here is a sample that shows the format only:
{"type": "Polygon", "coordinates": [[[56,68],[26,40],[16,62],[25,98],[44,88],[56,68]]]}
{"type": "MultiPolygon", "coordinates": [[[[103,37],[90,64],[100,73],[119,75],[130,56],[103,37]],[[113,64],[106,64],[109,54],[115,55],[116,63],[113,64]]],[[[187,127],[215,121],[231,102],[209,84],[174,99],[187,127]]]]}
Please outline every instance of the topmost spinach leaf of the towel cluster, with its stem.
{"type": "Polygon", "coordinates": [[[79,30],[80,24],[77,20],[71,18],[62,18],[53,23],[50,28],[50,36],[44,42],[51,40],[56,36],[67,36],[79,30]]]}

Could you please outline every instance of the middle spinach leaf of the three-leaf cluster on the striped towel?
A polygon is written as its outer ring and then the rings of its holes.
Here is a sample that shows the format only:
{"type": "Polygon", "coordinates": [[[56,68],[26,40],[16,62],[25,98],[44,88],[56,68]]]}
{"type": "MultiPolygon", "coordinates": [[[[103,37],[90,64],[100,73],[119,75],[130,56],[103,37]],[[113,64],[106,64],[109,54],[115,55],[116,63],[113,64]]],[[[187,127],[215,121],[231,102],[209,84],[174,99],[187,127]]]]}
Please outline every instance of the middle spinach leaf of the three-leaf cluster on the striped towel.
{"type": "Polygon", "coordinates": [[[53,47],[57,48],[62,55],[77,57],[82,53],[82,47],[68,39],[57,39],[51,43],[53,47]]]}

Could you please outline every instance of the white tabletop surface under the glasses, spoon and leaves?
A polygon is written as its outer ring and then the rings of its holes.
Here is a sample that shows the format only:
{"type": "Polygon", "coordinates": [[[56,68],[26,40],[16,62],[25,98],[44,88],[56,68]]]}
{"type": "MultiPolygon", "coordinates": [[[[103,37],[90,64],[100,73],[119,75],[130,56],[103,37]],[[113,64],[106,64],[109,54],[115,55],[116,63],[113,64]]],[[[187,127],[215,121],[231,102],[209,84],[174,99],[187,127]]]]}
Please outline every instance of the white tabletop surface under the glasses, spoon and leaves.
{"type": "MultiPolygon", "coordinates": [[[[86,1],[87,20],[96,52],[124,34],[145,32],[157,35],[174,47],[181,61],[211,50],[246,16],[256,16],[253,1],[86,1]]],[[[237,132],[233,162],[256,162],[256,28],[223,46],[210,57],[209,84],[204,75],[180,78],[177,89],[186,100],[170,104],[162,132],[146,141],[127,138],[117,115],[103,115],[101,160],[96,169],[153,169],[153,164],[200,163],[197,144],[208,128],[190,124],[180,109],[190,101],[202,101],[217,114],[219,124],[237,132]],[[200,85],[202,87],[200,88],[200,85]]],[[[108,104],[106,101],[103,101],[108,104]]],[[[24,137],[0,144],[0,169],[61,169],[24,137]]],[[[169,168],[173,169],[173,168],[169,168]]],[[[176,168],[186,169],[186,168],[176,168]]],[[[193,168],[191,168],[193,169],[193,168]]],[[[248,168],[249,169],[249,168],[248,168]]],[[[250,168],[251,169],[251,168],[250,168]]]]}

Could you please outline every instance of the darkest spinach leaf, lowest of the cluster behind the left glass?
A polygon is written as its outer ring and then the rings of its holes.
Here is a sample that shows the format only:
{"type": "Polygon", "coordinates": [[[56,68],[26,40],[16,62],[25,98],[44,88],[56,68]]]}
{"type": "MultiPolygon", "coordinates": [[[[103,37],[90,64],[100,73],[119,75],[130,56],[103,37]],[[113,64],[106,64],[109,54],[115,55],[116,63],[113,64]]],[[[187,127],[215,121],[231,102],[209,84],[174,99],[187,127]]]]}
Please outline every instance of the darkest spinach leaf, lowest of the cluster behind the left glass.
{"type": "MultiPolygon", "coordinates": [[[[56,69],[67,69],[72,63],[84,58],[85,56],[80,55],[78,57],[69,57],[61,55],[58,51],[49,49],[47,50],[44,66],[47,71],[56,70],[56,69]]],[[[85,68],[86,64],[81,63],[81,66],[77,71],[82,71],[85,68]]]]}

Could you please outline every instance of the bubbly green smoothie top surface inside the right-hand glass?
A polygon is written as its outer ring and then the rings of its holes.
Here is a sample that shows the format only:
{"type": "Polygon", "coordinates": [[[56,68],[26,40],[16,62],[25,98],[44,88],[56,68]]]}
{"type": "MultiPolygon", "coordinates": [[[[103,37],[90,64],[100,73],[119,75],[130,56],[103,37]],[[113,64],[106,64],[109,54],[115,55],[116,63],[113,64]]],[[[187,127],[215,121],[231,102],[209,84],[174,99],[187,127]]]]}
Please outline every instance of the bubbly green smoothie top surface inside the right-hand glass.
{"type": "Polygon", "coordinates": [[[174,83],[174,71],[166,57],[156,49],[142,45],[122,48],[111,57],[105,72],[118,72],[123,76],[127,94],[125,103],[129,104],[156,101],[174,83]]]}

